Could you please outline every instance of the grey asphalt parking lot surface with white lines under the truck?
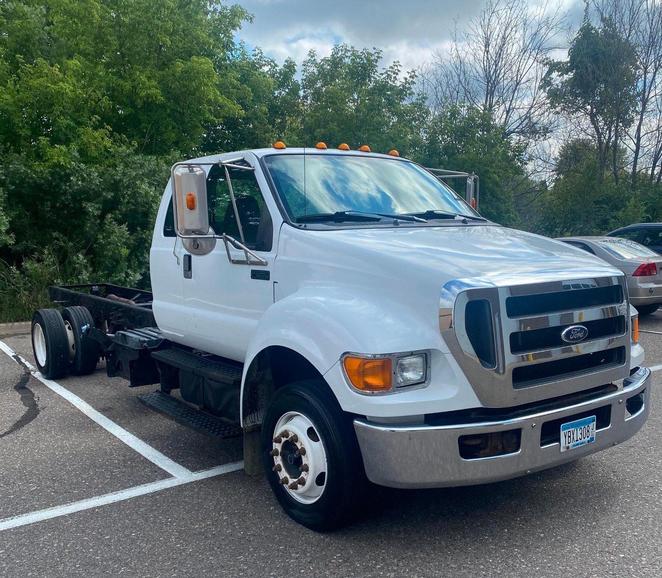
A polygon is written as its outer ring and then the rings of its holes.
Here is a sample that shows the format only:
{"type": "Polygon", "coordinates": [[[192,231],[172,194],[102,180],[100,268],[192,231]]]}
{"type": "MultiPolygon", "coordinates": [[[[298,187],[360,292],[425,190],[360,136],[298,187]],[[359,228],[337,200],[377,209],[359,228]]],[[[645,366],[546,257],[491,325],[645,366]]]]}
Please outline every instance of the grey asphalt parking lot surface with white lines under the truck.
{"type": "MultiPolygon", "coordinates": [[[[662,368],[662,311],[640,329],[662,368]]],[[[19,358],[34,363],[29,335],[1,341],[2,576],[662,576],[662,370],[624,444],[500,483],[385,489],[352,526],[316,534],[244,474],[240,440],[136,399],[156,386],[103,364],[49,384],[19,358]]]]}

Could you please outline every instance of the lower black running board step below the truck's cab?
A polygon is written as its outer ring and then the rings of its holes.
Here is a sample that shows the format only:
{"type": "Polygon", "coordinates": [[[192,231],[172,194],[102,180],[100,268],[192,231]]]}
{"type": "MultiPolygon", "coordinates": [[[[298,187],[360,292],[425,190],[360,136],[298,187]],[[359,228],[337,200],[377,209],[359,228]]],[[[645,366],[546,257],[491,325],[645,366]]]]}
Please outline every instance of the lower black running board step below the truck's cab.
{"type": "Polygon", "coordinates": [[[158,390],[151,393],[141,393],[138,395],[138,399],[177,423],[211,437],[234,438],[244,435],[244,431],[240,427],[200,409],[194,409],[183,401],[167,395],[167,393],[158,390]]]}

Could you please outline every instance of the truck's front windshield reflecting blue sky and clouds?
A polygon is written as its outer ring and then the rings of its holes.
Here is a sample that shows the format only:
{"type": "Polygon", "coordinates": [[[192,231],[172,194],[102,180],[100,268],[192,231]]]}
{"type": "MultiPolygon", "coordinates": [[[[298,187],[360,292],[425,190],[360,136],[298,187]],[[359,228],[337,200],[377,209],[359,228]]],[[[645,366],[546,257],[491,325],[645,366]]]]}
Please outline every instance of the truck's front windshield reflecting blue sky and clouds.
{"type": "Polygon", "coordinates": [[[303,154],[270,155],[265,163],[293,221],[342,211],[406,214],[438,210],[478,216],[448,186],[408,161],[313,153],[305,155],[305,174],[303,154]]]}

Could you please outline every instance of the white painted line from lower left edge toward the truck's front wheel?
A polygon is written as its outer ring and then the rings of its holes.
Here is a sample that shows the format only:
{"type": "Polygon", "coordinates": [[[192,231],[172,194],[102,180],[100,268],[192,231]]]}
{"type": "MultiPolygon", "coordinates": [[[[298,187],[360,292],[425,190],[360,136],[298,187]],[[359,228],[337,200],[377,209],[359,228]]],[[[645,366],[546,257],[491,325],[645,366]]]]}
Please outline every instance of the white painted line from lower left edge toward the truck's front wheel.
{"type": "Polygon", "coordinates": [[[0,532],[2,530],[9,530],[9,528],[17,528],[19,526],[25,526],[26,524],[34,524],[34,522],[50,520],[50,518],[58,518],[59,516],[66,516],[75,512],[81,512],[83,510],[104,506],[106,504],[114,504],[169,487],[175,487],[177,485],[191,483],[192,481],[206,479],[207,477],[213,477],[214,475],[236,472],[236,470],[241,470],[243,467],[244,462],[234,462],[234,464],[216,466],[216,468],[211,468],[211,470],[203,470],[202,472],[195,472],[195,474],[189,473],[189,475],[184,477],[169,477],[160,481],[153,481],[152,483],[136,485],[134,487],[123,489],[117,492],[89,498],[87,500],[81,500],[79,502],[73,502],[64,506],[55,506],[45,510],[38,510],[36,512],[22,514],[20,516],[5,518],[4,520],[0,520],[0,532]]]}

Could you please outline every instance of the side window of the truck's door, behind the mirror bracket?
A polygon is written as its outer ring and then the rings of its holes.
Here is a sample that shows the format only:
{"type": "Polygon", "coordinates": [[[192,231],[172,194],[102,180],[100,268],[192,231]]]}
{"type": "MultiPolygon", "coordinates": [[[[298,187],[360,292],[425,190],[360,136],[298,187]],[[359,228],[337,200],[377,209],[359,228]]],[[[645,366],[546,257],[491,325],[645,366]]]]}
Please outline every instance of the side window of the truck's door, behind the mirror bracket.
{"type": "MultiPolygon", "coordinates": [[[[256,251],[271,251],[271,215],[264,204],[254,172],[242,169],[228,169],[228,172],[246,246],[256,251]]],[[[214,232],[241,240],[225,170],[218,165],[211,167],[207,175],[207,206],[209,225],[214,232]]]]}

